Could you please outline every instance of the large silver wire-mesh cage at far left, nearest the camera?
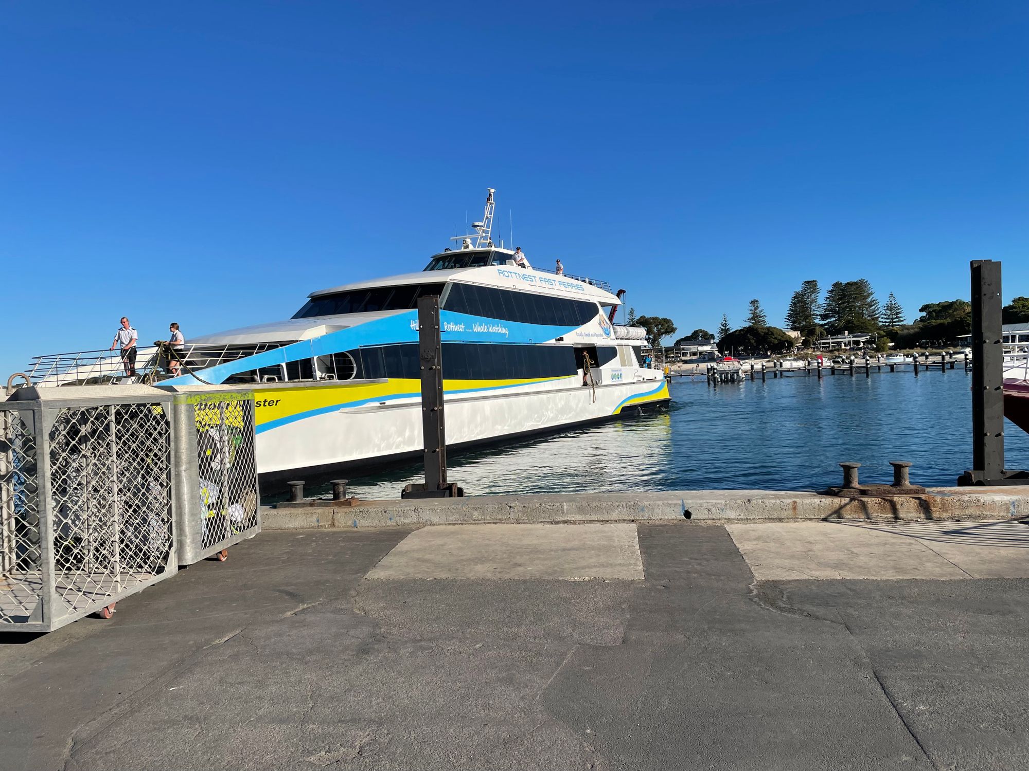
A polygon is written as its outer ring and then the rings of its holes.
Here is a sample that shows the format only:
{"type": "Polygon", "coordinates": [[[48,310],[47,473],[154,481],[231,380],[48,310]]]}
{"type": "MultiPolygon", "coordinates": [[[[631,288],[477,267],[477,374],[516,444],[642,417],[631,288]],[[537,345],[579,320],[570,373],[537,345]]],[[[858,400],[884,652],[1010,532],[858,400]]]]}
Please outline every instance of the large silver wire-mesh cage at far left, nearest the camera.
{"type": "Polygon", "coordinates": [[[49,631],[176,573],[171,397],[23,392],[0,403],[0,630],[49,631]]]}

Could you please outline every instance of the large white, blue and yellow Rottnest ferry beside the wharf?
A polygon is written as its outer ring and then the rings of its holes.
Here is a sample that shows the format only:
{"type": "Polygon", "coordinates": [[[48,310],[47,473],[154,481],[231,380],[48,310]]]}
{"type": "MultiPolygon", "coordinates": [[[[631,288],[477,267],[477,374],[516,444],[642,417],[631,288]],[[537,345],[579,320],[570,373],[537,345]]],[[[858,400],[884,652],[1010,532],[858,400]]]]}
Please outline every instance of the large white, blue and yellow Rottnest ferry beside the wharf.
{"type": "MultiPolygon", "coordinates": [[[[176,377],[158,366],[156,353],[140,372],[156,374],[158,386],[252,388],[265,490],[298,476],[422,456],[423,295],[439,296],[450,447],[667,403],[664,374],[643,364],[644,330],[613,323],[624,291],[516,264],[514,252],[490,235],[493,192],[474,232],[457,236],[454,249],[432,255],[420,272],[320,289],[288,320],[187,340],[176,377]]],[[[96,381],[95,364],[46,371],[44,360],[32,376],[46,384],[83,373],[96,381]]]]}

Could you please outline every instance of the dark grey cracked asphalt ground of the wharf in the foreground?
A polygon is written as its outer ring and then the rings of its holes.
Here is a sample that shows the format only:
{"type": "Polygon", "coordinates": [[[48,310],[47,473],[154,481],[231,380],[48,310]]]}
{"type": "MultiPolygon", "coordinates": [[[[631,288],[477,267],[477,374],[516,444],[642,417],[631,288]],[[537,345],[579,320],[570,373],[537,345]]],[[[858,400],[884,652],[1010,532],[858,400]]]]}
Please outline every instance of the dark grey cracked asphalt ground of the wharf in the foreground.
{"type": "Polygon", "coordinates": [[[0,769],[1029,768],[1029,580],[755,581],[724,526],[637,530],[642,580],[262,534],[0,637],[0,769]]]}

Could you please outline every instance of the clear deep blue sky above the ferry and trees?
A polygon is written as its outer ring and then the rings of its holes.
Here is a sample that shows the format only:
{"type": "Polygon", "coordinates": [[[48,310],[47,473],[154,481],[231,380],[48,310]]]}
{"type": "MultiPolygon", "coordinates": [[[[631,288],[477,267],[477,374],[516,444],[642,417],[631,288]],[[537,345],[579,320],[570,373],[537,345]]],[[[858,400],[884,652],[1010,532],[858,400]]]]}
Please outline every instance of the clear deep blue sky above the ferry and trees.
{"type": "Polygon", "coordinates": [[[0,372],[497,231],[680,334],[805,279],[1029,294],[1023,2],[4,2],[0,372]]]}

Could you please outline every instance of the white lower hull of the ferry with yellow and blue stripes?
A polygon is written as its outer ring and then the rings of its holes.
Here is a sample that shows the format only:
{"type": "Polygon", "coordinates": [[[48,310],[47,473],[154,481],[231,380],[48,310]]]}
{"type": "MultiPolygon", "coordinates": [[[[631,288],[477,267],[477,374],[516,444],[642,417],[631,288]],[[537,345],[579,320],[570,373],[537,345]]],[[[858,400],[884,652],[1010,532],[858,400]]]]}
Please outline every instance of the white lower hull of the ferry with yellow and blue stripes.
{"type": "MultiPolygon", "coordinates": [[[[605,371],[605,376],[610,373],[605,371]]],[[[471,447],[549,434],[667,403],[664,379],[581,387],[577,378],[447,388],[447,443],[471,447]]],[[[255,390],[257,466],[272,491],[308,477],[385,468],[422,455],[418,381],[255,390]]]]}

